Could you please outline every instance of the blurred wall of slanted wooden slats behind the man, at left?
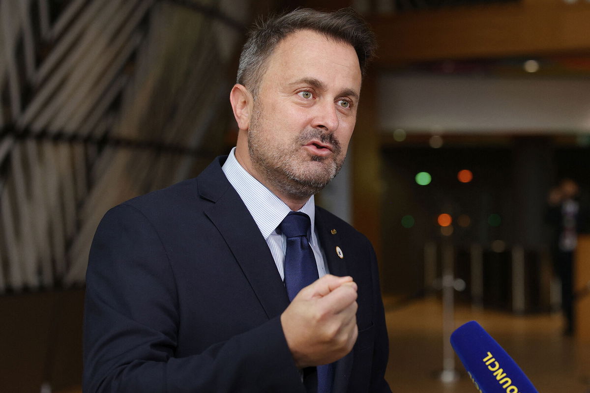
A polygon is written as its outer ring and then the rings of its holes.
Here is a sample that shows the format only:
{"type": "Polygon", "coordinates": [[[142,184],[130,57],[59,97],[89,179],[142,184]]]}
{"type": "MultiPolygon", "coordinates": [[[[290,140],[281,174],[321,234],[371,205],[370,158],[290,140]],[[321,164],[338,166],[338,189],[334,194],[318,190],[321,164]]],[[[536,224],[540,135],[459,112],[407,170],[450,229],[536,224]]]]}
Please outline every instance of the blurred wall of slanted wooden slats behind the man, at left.
{"type": "Polygon", "coordinates": [[[0,294],[83,284],[107,209],[221,153],[247,3],[0,0],[0,294]]]}

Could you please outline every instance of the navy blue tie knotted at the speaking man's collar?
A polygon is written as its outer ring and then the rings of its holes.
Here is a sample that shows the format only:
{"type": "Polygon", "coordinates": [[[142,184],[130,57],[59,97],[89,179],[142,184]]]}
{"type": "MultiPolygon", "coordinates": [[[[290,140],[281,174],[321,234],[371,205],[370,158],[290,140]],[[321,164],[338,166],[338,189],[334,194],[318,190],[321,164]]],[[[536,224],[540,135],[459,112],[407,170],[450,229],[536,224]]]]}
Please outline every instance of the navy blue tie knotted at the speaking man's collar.
{"type": "MultiPolygon", "coordinates": [[[[279,224],[278,229],[287,237],[284,274],[285,287],[289,300],[293,300],[304,287],[313,283],[317,275],[316,257],[307,240],[311,221],[301,212],[289,212],[279,224]]],[[[317,366],[317,393],[330,393],[334,370],[332,364],[317,366]]]]}

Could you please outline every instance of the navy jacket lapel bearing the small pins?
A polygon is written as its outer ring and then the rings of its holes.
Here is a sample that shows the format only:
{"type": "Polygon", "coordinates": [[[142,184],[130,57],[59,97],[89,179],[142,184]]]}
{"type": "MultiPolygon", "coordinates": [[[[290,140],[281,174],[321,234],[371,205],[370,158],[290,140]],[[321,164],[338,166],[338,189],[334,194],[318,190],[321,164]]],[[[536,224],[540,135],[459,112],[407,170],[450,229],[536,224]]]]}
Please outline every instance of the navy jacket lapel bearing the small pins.
{"type": "MultiPolygon", "coordinates": [[[[316,226],[317,235],[319,236],[320,245],[324,250],[326,256],[326,263],[330,274],[335,276],[348,275],[348,261],[346,260],[346,247],[343,247],[342,239],[340,238],[339,227],[336,223],[331,222],[329,215],[316,208],[316,226]],[[338,256],[336,247],[340,248],[343,258],[338,256]]],[[[352,351],[348,355],[336,362],[334,371],[334,385],[332,393],[346,392],[348,389],[348,381],[350,378],[350,371],[352,370],[352,351]]]]}

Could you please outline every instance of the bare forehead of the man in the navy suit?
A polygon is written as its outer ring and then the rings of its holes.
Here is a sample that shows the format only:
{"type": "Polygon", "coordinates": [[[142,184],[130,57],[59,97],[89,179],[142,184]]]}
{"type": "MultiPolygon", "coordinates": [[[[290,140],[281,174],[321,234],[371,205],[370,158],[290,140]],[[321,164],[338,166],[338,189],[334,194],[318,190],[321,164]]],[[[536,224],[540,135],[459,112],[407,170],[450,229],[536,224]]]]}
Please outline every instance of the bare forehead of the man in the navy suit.
{"type": "Polygon", "coordinates": [[[355,49],[348,42],[307,29],[288,35],[268,58],[262,84],[289,83],[306,77],[360,93],[362,77],[355,49]]]}

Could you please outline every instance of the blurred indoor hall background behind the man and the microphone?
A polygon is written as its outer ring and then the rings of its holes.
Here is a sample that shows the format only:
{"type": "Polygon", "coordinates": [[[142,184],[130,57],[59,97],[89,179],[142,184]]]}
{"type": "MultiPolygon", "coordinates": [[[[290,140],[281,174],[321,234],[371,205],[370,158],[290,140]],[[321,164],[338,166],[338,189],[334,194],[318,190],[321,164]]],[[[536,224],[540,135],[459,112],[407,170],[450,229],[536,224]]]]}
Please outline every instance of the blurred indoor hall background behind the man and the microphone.
{"type": "Polygon", "coordinates": [[[378,253],[392,389],[475,391],[448,334],[477,319],[590,391],[588,0],[0,0],[0,391],[81,391],[97,224],[228,153],[245,31],[297,6],[379,39],[318,200],[378,253]]]}

